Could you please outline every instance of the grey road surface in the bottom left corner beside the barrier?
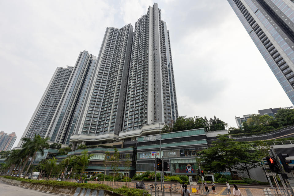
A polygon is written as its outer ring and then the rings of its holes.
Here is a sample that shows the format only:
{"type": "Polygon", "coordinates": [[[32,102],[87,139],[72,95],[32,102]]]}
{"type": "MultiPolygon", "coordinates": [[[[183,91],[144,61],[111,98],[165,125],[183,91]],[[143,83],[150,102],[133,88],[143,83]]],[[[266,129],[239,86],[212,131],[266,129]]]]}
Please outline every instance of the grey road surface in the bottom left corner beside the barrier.
{"type": "Polygon", "coordinates": [[[0,195],[1,196],[32,196],[32,195],[38,195],[38,196],[51,196],[51,195],[58,195],[58,194],[52,194],[52,193],[44,193],[37,190],[17,187],[11,184],[4,183],[0,181],[0,195]]]}

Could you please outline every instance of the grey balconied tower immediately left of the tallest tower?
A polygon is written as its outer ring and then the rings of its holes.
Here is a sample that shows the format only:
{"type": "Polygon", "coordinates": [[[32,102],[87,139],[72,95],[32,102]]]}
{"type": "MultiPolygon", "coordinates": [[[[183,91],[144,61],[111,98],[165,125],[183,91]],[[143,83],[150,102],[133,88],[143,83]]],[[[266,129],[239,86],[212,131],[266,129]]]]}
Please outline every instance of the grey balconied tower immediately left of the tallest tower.
{"type": "MultiPolygon", "coordinates": [[[[116,141],[122,130],[133,26],[106,28],[87,104],[76,134],[96,135],[95,141],[116,141]]],[[[85,136],[83,136],[85,137],[85,136]]]]}

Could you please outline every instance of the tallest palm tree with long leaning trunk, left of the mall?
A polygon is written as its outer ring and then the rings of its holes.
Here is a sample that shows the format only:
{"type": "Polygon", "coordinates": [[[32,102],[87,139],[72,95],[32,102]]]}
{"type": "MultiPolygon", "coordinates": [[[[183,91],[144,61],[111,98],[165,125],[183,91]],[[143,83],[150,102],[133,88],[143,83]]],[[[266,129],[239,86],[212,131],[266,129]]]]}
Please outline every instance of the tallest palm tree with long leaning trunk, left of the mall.
{"type": "Polygon", "coordinates": [[[34,139],[32,140],[32,142],[30,143],[30,145],[28,145],[28,149],[30,149],[30,152],[33,153],[32,156],[32,160],[30,162],[30,164],[28,165],[27,171],[25,171],[25,176],[28,174],[28,171],[32,165],[32,163],[34,162],[35,156],[37,152],[40,152],[41,155],[44,155],[44,149],[49,149],[49,144],[47,143],[47,141],[49,140],[49,138],[41,138],[40,135],[36,135],[34,139]]]}

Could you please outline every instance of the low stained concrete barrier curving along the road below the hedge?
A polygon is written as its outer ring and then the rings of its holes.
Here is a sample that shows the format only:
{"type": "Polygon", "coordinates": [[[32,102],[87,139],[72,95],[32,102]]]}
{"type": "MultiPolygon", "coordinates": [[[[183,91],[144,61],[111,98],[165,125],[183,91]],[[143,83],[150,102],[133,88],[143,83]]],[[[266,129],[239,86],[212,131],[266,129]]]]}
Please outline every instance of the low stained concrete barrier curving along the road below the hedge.
{"type": "Polygon", "coordinates": [[[40,190],[47,193],[55,193],[68,196],[123,196],[109,190],[86,189],[81,187],[52,186],[50,184],[29,183],[0,177],[0,180],[18,187],[40,190]]]}

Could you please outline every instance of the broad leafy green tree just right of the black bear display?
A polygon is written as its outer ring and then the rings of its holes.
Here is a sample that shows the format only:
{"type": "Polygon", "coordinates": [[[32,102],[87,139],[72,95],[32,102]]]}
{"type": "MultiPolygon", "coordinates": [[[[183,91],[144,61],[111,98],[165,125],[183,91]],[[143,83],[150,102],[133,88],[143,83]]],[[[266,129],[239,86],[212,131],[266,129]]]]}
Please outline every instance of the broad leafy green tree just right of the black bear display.
{"type": "Polygon", "coordinates": [[[210,172],[228,169],[233,177],[232,169],[241,161],[237,156],[239,150],[237,142],[228,138],[228,135],[219,135],[217,141],[213,141],[213,147],[202,151],[201,160],[205,162],[203,167],[210,172]]]}

